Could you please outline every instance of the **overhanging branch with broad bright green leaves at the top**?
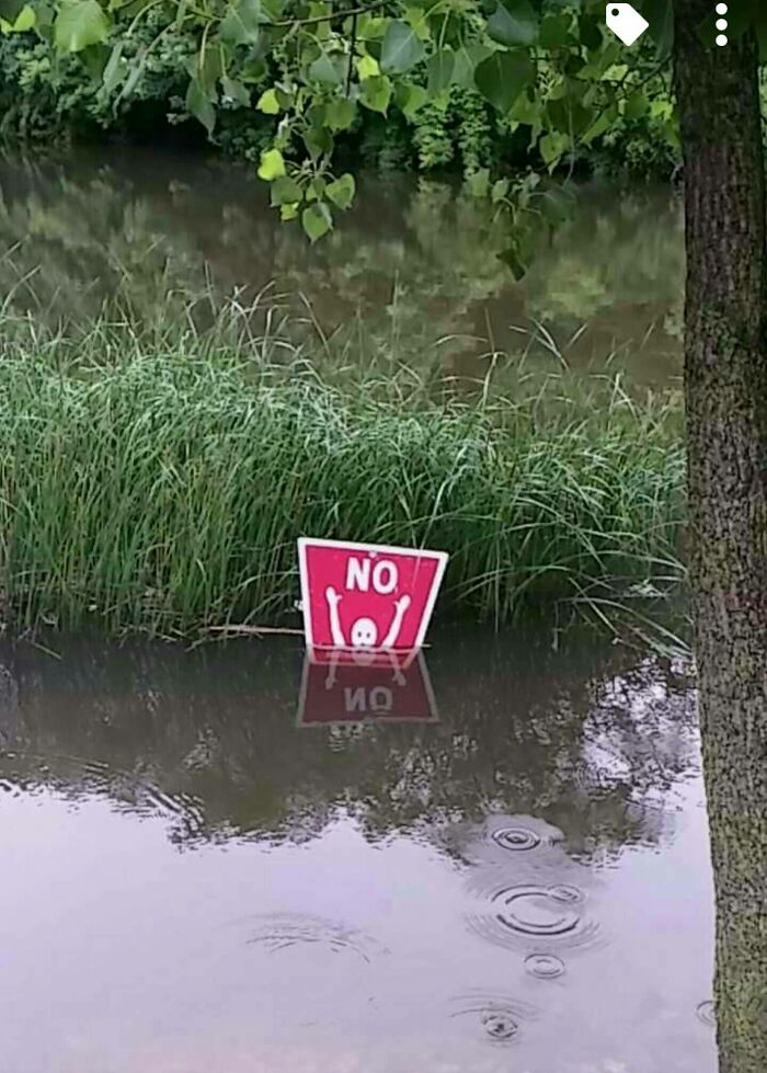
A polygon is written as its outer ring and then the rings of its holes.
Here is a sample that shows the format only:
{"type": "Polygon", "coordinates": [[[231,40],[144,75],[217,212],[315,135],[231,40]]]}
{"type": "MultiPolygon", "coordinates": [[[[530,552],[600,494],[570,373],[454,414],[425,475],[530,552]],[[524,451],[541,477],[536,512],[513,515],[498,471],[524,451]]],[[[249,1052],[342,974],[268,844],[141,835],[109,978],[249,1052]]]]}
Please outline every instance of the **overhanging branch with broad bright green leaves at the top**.
{"type": "MultiPolygon", "coordinates": [[[[550,172],[566,168],[580,146],[648,107],[642,89],[664,75],[671,52],[671,2],[646,0],[654,39],[633,49],[606,30],[604,0],[0,0],[0,30],[34,35],[54,65],[81,64],[115,111],[139,91],[152,53],[183,30],[186,114],[214,140],[224,110],[271,121],[259,175],[282,217],[316,241],[353,203],[335,150],[365,110],[412,122],[455,88],[472,89],[550,172]]],[[[767,45],[767,11],[741,3],[742,22],[753,18],[767,45]]],[[[673,113],[664,122],[673,140],[673,113]]],[[[526,228],[556,224],[566,198],[535,178],[478,173],[470,185],[515,214],[519,241],[506,260],[520,274],[526,228]]]]}

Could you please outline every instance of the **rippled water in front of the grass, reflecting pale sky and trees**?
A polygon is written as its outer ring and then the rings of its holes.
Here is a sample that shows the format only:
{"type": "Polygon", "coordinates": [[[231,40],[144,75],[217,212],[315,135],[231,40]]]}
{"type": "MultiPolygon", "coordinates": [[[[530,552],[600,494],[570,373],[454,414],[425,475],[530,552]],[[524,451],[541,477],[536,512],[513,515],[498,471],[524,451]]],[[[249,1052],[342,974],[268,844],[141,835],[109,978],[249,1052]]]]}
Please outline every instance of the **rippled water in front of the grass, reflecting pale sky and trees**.
{"type": "Polygon", "coordinates": [[[344,708],[291,642],[50,643],[2,653],[2,1073],[716,1070],[683,665],[444,633],[344,708]]]}

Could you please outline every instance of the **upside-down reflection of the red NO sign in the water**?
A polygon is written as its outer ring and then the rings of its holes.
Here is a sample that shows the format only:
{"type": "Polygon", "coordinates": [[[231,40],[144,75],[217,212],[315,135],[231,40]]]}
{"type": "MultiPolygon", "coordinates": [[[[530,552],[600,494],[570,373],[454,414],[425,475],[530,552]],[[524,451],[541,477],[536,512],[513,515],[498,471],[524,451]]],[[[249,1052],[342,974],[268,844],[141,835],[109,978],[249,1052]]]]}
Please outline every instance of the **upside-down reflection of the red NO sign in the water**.
{"type": "Polygon", "coordinates": [[[298,724],[437,722],[428,671],[421,652],[309,651],[298,724]],[[368,662],[371,660],[373,662],[368,662]],[[359,662],[362,661],[362,662],[359,662]]]}

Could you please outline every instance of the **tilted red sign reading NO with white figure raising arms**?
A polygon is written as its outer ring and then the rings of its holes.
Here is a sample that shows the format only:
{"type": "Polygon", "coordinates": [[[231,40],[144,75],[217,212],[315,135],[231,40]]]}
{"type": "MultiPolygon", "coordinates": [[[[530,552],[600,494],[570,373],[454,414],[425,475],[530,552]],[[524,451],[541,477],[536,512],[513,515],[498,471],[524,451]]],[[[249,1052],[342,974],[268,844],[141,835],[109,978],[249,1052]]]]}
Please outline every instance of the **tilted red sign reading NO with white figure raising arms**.
{"type": "Polygon", "coordinates": [[[444,551],[301,538],[307,646],[421,648],[446,563],[444,551]]]}

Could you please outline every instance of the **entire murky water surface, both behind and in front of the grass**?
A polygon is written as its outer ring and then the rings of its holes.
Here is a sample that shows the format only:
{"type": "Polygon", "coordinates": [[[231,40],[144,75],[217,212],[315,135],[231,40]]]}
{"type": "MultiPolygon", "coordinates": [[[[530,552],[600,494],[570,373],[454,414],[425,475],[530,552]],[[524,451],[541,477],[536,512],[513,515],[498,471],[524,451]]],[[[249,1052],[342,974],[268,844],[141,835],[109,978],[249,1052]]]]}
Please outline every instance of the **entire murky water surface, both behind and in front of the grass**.
{"type": "MultiPolygon", "coordinates": [[[[675,383],[671,192],[584,189],[518,284],[507,244],[431,181],[310,248],[230,163],[0,162],[0,287],[51,324],[265,295],[276,357],[675,383]]],[[[0,1073],[717,1069],[688,667],[593,638],[7,644],[0,875],[0,1073]]]]}

